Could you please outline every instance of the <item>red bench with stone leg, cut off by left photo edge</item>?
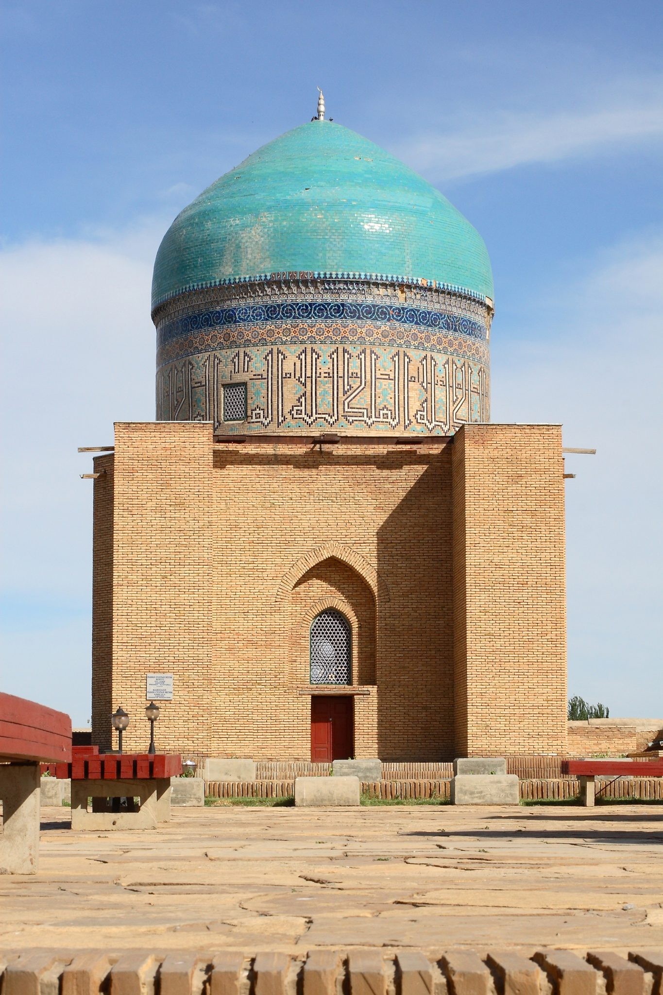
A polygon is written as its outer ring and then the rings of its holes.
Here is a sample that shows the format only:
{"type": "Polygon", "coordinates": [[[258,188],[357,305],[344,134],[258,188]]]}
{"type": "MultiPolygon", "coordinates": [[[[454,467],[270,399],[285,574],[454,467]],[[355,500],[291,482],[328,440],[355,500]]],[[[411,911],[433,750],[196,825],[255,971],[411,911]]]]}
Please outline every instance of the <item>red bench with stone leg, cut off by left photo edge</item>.
{"type": "Polygon", "coordinates": [[[71,759],[69,715],[0,693],[0,874],[37,873],[40,763],[71,759]]]}

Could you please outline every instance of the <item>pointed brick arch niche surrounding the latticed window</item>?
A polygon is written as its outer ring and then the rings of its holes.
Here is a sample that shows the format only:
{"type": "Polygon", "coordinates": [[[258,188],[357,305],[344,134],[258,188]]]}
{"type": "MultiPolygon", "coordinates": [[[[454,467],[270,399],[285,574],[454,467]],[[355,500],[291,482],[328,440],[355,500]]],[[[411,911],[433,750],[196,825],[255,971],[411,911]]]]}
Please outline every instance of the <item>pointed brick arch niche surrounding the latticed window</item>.
{"type": "Polygon", "coordinates": [[[376,598],[368,581],[349,563],[328,556],[302,573],[289,594],[292,677],[308,685],[310,631],[320,612],[335,609],[352,629],[351,686],[376,683],[376,598]]]}

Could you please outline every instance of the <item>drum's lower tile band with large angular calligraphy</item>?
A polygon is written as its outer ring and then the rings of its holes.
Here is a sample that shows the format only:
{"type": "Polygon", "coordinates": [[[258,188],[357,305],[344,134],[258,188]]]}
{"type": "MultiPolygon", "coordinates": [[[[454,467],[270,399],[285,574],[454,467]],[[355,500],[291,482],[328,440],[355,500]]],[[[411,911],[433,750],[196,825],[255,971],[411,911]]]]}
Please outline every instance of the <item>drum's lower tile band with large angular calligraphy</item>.
{"type": "MultiPolygon", "coordinates": [[[[212,421],[227,432],[449,435],[490,418],[484,362],[443,352],[298,342],[200,353],[157,373],[157,420],[212,421]],[[246,422],[225,423],[224,384],[243,382],[246,422]]],[[[227,389],[227,388],[226,388],[227,389]]]]}

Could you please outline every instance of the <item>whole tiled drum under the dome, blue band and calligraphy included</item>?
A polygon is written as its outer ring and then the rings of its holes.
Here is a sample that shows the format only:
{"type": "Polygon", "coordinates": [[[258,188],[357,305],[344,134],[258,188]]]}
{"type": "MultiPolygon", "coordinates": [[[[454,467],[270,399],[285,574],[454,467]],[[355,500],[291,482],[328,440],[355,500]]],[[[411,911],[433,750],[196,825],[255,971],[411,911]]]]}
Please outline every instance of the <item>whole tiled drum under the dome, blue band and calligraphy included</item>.
{"type": "Polygon", "coordinates": [[[489,421],[490,316],[485,301],[420,284],[303,274],[182,295],[154,314],[157,418],[447,435],[489,421]],[[224,403],[235,383],[242,421],[224,403]]]}

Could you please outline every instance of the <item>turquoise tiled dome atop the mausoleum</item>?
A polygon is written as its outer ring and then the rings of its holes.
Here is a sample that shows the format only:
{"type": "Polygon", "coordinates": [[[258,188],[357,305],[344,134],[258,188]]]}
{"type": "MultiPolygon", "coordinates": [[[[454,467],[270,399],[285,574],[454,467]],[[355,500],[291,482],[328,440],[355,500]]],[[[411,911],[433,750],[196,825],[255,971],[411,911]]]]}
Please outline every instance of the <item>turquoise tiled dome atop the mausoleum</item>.
{"type": "Polygon", "coordinates": [[[152,306],[285,271],[435,281],[493,297],[476,229],[405,163],[328,120],[258,148],[178,214],[157,253],[152,306]]]}

